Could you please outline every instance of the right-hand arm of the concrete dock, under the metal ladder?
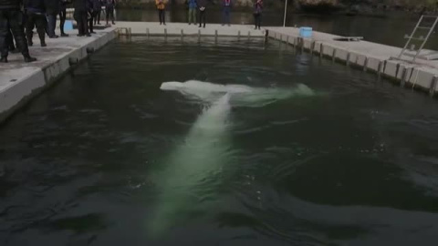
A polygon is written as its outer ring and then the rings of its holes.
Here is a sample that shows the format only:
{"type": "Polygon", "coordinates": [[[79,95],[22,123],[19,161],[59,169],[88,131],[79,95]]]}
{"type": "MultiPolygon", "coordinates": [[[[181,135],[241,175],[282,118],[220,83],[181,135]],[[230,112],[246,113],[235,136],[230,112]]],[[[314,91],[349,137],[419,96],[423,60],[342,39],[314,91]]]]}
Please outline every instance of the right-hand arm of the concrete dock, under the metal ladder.
{"type": "MultiPolygon", "coordinates": [[[[385,46],[367,41],[337,41],[341,36],[313,32],[311,38],[299,36],[294,27],[266,27],[268,36],[306,50],[312,54],[328,57],[347,66],[360,67],[400,82],[401,87],[418,88],[434,96],[438,91],[438,60],[417,58],[415,63],[392,59],[401,53],[400,47],[385,46]]],[[[412,59],[411,56],[401,56],[412,59]]]]}

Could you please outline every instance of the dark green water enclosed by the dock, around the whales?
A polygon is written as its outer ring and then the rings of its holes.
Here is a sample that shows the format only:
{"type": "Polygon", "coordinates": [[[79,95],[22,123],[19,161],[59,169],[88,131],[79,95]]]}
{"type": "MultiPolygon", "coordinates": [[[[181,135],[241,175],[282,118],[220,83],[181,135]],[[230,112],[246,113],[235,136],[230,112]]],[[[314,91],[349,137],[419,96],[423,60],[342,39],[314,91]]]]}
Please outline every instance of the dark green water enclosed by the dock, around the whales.
{"type": "Polygon", "coordinates": [[[0,245],[436,245],[437,127],[433,99],[277,43],[119,40],[0,129],[0,245]],[[232,96],[210,145],[212,102],[160,90],[188,79],[274,96],[232,96]]]}

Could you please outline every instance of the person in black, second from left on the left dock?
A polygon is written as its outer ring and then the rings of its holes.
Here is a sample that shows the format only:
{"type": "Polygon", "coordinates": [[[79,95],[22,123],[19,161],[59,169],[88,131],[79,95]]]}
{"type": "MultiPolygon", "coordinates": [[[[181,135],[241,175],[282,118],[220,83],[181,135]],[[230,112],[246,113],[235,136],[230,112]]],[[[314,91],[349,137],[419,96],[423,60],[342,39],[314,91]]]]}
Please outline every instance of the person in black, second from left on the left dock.
{"type": "Polygon", "coordinates": [[[27,21],[26,21],[26,36],[27,44],[33,46],[32,36],[34,36],[34,27],[36,26],[36,32],[39,36],[41,46],[46,45],[46,5],[44,0],[27,0],[25,3],[27,21]]]}

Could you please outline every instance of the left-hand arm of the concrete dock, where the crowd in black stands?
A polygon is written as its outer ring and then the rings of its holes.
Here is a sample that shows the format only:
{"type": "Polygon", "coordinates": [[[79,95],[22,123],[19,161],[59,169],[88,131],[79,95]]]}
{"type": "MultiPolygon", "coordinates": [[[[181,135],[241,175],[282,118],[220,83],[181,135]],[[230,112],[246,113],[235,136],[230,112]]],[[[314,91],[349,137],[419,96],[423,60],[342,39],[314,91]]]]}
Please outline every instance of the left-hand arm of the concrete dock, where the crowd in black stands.
{"type": "Polygon", "coordinates": [[[38,59],[36,62],[26,64],[21,54],[10,54],[9,63],[0,64],[0,122],[78,61],[116,37],[115,27],[97,31],[90,37],[78,37],[77,32],[69,32],[68,37],[47,38],[46,47],[41,47],[34,36],[34,46],[29,49],[31,56],[38,59]]]}

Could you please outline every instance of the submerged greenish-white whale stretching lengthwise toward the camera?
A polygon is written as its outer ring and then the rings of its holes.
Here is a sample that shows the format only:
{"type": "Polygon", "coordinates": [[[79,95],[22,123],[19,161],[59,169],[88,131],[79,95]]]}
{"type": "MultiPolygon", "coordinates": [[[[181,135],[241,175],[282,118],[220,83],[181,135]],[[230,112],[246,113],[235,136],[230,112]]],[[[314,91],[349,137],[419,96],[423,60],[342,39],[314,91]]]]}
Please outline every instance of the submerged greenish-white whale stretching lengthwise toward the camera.
{"type": "Polygon", "coordinates": [[[185,141],[167,159],[157,178],[160,196],[150,220],[151,236],[176,225],[178,218],[193,209],[217,184],[216,174],[227,162],[229,95],[220,97],[193,123],[185,141]]]}

